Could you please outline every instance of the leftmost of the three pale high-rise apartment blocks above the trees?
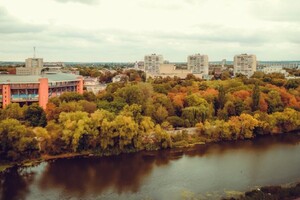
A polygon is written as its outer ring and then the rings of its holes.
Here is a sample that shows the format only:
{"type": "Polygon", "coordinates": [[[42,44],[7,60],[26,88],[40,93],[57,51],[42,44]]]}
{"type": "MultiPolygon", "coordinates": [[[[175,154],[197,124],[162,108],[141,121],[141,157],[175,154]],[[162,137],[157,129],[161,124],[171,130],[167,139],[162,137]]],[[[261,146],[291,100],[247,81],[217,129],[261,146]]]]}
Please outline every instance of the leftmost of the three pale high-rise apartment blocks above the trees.
{"type": "Polygon", "coordinates": [[[164,63],[162,55],[151,54],[144,57],[145,71],[151,74],[159,74],[159,67],[164,63]]]}

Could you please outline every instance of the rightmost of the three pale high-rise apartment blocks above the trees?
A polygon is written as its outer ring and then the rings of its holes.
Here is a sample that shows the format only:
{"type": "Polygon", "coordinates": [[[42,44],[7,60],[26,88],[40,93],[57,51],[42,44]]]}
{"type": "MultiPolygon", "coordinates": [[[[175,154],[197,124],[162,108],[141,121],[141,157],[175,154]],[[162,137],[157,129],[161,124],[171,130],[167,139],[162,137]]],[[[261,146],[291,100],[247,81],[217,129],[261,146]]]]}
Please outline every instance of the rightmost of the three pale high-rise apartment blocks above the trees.
{"type": "Polygon", "coordinates": [[[252,76],[256,71],[256,55],[240,54],[234,56],[233,73],[252,76]]]}

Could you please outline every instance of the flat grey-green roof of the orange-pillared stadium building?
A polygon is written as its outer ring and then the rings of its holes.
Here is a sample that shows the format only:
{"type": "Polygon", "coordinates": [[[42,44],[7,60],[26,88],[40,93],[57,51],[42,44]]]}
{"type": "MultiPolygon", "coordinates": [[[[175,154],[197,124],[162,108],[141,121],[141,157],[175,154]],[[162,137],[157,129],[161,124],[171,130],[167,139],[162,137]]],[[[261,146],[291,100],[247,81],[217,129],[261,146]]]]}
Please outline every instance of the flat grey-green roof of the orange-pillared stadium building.
{"type": "Polygon", "coordinates": [[[80,77],[75,74],[56,73],[43,75],[0,75],[0,84],[39,83],[40,78],[48,78],[48,82],[76,81],[80,77]]]}

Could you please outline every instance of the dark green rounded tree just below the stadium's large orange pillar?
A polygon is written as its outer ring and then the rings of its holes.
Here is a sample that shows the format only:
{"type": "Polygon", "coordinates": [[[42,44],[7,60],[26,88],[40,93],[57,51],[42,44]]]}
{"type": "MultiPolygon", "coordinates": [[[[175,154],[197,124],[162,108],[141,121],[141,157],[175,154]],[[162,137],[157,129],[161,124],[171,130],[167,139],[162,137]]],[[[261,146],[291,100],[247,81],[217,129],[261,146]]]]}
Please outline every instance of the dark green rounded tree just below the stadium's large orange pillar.
{"type": "Polygon", "coordinates": [[[25,111],[25,120],[31,126],[42,126],[47,125],[46,113],[38,104],[31,104],[25,111]]]}

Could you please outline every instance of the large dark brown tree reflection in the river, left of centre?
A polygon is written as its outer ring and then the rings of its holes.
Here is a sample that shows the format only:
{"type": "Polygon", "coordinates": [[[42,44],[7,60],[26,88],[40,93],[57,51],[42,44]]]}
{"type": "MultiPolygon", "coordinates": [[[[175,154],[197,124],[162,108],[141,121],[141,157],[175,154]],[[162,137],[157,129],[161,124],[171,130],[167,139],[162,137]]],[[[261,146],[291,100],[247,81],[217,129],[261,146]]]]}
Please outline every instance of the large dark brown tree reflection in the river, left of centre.
{"type": "Polygon", "coordinates": [[[79,196],[101,194],[108,189],[118,194],[135,193],[155,165],[167,165],[169,160],[165,153],[56,160],[47,165],[39,186],[64,188],[79,196]]]}

